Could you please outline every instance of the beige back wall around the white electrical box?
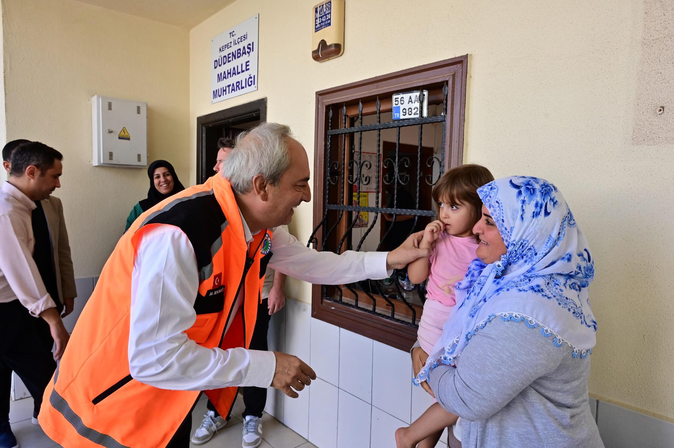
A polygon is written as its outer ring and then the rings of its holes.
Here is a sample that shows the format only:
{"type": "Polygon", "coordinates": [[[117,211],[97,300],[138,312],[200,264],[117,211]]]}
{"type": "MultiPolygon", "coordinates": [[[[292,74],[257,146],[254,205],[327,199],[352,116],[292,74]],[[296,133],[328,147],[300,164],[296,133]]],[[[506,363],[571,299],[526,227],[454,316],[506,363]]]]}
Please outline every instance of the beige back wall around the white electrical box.
{"type": "Polygon", "coordinates": [[[150,160],[173,162],[187,185],[188,32],[71,0],[3,0],[2,8],[7,139],[63,153],[55,195],[75,276],[96,276],[149,181],[145,168],[91,165],[90,98],[148,102],[150,160]]]}

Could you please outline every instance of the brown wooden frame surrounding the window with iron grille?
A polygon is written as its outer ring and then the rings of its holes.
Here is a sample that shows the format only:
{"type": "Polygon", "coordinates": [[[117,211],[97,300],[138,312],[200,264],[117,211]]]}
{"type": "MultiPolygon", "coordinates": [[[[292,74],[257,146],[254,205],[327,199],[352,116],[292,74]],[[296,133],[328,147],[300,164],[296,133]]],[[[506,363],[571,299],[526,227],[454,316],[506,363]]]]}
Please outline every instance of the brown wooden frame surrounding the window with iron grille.
{"type": "MultiPolygon", "coordinates": [[[[316,228],[323,219],[327,202],[325,196],[326,176],[326,137],[328,129],[328,108],[333,109],[333,123],[338,123],[342,107],[347,108],[347,115],[355,116],[359,100],[363,103],[363,114],[373,113],[375,99],[381,100],[381,113],[391,110],[390,95],[392,92],[414,90],[419,86],[429,88],[429,104],[433,96],[437,96],[437,88],[442,84],[448,85],[446,139],[443,148],[444,169],[448,170],[459,166],[463,161],[464,144],[464,115],[466,110],[466,79],[468,73],[468,55],[446,59],[421,65],[411,69],[396,71],[364,79],[363,81],[345,84],[316,92],[315,133],[314,133],[314,199],[313,199],[313,227],[316,228]],[[353,110],[353,112],[352,112],[353,110]]],[[[344,136],[340,136],[340,139],[344,136]]],[[[329,161],[328,161],[329,162],[329,161]]],[[[319,228],[315,233],[316,241],[323,238],[324,229],[319,228]]],[[[361,309],[348,307],[338,302],[323,302],[321,285],[313,285],[311,300],[311,315],[321,321],[326,321],[364,335],[367,338],[383,344],[409,350],[417,339],[417,328],[404,323],[393,322],[384,317],[378,317],[361,309]]]]}

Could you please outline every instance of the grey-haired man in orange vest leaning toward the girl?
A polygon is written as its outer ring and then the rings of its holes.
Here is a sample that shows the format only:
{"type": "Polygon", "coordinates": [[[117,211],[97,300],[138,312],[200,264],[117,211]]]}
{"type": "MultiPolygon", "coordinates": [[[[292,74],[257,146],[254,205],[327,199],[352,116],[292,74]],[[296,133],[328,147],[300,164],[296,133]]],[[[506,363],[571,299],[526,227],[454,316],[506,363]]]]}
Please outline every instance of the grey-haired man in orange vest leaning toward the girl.
{"type": "Polygon", "coordinates": [[[276,238],[268,229],[311,200],[307,153],[287,126],[239,137],[221,174],[144,212],[115,247],[44,393],[40,424],[63,447],[188,447],[202,391],[223,415],[239,386],[298,397],[316,377],[307,364],[247,350],[268,265],[344,284],[429,255],[415,238],[341,255],[276,238]]]}

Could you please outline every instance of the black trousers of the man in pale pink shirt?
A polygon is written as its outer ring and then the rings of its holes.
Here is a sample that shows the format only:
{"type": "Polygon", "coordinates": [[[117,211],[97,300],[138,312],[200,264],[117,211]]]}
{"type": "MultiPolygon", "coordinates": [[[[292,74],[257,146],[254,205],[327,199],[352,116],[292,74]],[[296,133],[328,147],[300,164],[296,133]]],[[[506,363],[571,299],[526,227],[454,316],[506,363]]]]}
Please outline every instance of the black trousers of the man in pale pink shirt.
{"type": "Polygon", "coordinates": [[[32,317],[19,300],[0,303],[0,423],[9,420],[11,372],[33,397],[33,414],[42,405],[44,389],[56,370],[49,325],[32,317]]]}

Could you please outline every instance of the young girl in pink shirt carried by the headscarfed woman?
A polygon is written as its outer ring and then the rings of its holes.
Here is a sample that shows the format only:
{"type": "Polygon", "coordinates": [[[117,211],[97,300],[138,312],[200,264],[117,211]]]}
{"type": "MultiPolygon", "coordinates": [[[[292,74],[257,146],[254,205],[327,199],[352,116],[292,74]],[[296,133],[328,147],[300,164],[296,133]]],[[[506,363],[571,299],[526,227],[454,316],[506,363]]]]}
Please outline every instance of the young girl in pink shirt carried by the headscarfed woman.
{"type": "MultiPolygon", "coordinates": [[[[484,166],[463,165],[443,174],[433,188],[437,220],[426,226],[419,243],[420,247],[432,249],[431,256],[420,258],[407,268],[412,283],[419,284],[428,279],[426,302],[417,332],[425,356],[415,362],[415,375],[425,364],[425,358],[433,350],[452,307],[456,305],[454,285],[463,280],[470,262],[475,259],[478,239],[472,233],[472,226],[482,216],[482,201],[477,189],[493,180],[491,172],[484,166]]],[[[427,383],[422,386],[430,393],[427,383]]],[[[456,418],[434,403],[411,426],[396,431],[398,448],[435,447],[442,430],[456,422],[456,418]]]]}

